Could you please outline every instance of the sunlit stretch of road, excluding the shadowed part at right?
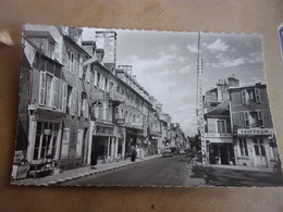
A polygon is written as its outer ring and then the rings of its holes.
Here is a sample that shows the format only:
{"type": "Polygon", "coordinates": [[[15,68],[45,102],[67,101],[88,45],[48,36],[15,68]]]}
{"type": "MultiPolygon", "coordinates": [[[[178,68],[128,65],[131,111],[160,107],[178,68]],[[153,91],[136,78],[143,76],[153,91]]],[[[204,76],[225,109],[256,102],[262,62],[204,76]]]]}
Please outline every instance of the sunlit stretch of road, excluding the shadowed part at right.
{"type": "Polygon", "coordinates": [[[157,158],[111,172],[66,182],[63,185],[99,186],[200,186],[204,178],[190,178],[193,165],[185,154],[157,158]]]}

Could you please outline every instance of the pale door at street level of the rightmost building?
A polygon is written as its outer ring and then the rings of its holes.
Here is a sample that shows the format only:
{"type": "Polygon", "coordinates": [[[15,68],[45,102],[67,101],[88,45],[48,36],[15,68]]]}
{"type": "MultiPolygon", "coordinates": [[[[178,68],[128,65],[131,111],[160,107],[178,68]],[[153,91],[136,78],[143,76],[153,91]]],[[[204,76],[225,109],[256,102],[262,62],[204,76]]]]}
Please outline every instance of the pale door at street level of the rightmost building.
{"type": "Polygon", "coordinates": [[[267,155],[263,138],[254,138],[255,166],[267,166],[267,155]]]}

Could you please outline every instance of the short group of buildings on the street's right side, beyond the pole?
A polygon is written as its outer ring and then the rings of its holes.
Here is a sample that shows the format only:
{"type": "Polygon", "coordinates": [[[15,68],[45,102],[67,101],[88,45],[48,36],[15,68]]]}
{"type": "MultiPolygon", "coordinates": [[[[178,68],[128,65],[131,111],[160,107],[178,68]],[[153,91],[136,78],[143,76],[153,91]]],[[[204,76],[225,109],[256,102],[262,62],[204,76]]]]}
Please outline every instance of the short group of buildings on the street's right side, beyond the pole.
{"type": "Polygon", "coordinates": [[[206,160],[272,169],[278,149],[267,86],[239,86],[235,75],[220,79],[204,98],[206,160]]]}

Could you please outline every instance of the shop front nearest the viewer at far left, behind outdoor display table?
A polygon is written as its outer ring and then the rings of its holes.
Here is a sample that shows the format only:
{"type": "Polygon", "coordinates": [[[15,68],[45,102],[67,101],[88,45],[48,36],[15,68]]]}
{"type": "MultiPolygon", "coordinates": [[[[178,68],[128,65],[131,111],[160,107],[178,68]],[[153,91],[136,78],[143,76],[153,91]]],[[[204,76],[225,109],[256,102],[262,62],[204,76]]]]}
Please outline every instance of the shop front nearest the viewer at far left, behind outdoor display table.
{"type": "Polygon", "coordinates": [[[29,174],[36,176],[41,171],[53,170],[60,157],[62,116],[61,112],[29,108],[29,144],[26,155],[30,165],[29,174]]]}

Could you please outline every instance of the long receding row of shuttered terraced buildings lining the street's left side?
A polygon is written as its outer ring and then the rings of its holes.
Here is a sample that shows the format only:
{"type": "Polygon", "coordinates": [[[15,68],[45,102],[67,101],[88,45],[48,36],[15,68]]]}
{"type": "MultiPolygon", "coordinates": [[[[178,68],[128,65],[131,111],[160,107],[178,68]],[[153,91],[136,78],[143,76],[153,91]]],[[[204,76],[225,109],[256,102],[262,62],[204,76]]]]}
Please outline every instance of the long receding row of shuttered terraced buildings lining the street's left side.
{"type": "Polygon", "coordinates": [[[180,124],[142,87],[131,65],[116,65],[116,33],[82,40],[76,27],[23,28],[16,152],[30,163],[57,161],[62,170],[108,163],[134,147],[146,154],[185,148],[180,124]]]}

